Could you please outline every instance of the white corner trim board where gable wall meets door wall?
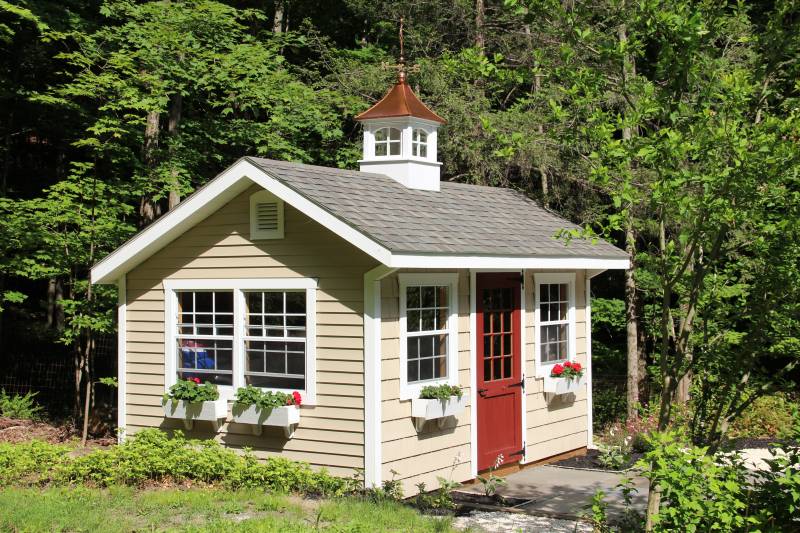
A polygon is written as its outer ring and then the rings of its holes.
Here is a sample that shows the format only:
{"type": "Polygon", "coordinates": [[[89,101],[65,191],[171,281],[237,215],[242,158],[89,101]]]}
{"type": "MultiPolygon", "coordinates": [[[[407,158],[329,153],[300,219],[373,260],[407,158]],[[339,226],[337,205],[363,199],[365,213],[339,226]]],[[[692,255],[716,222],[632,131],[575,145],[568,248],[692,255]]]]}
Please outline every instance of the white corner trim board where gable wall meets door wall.
{"type": "Polygon", "coordinates": [[[395,269],[384,265],[364,274],[364,484],[381,485],[381,280],[395,269]]]}

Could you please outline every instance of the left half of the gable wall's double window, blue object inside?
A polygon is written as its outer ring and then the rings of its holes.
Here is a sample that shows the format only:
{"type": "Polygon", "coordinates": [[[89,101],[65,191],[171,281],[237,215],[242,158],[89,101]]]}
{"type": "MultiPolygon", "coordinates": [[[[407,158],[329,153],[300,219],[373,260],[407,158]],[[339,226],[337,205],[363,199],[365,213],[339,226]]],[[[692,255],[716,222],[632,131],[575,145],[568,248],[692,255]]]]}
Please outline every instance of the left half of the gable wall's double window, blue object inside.
{"type": "Polygon", "coordinates": [[[178,293],[178,376],[233,385],[233,292],[178,293]]]}

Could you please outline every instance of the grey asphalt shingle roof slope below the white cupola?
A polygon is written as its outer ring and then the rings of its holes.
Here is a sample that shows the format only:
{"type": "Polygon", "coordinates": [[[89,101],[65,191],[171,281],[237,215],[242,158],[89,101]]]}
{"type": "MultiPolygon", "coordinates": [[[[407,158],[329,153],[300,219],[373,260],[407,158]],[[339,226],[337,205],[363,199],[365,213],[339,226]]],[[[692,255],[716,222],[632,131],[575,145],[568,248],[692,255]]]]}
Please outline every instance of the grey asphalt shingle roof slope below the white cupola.
{"type": "Polygon", "coordinates": [[[564,244],[554,235],[578,226],[511,189],[443,181],[420,191],[383,174],[248,160],[391,252],[627,258],[605,241],[564,244]]]}

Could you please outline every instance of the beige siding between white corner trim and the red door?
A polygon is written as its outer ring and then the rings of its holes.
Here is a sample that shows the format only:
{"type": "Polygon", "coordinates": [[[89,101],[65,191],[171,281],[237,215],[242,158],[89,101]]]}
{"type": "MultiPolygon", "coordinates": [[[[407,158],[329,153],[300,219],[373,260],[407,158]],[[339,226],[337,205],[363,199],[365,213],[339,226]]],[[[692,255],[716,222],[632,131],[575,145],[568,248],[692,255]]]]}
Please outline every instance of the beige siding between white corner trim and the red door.
{"type": "MultiPolygon", "coordinates": [[[[421,272],[415,270],[414,272],[421,272]]],[[[433,272],[433,271],[428,271],[433,272]]],[[[444,271],[436,271],[444,272],[444,271]]],[[[450,271],[452,272],[452,271],[450,271]]],[[[439,429],[428,422],[420,433],[411,418],[411,400],[400,401],[399,280],[397,273],[381,282],[381,436],[383,479],[400,480],[406,496],[416,494],[417,483],[436,489],[441,476],[452,481],[470,479],[470,406],[439,429]],[[392,474],[392,470],[397,475],[392,474]]],[[[470,395],[469,273],[458,277],[459,384],[470,395]]]]}

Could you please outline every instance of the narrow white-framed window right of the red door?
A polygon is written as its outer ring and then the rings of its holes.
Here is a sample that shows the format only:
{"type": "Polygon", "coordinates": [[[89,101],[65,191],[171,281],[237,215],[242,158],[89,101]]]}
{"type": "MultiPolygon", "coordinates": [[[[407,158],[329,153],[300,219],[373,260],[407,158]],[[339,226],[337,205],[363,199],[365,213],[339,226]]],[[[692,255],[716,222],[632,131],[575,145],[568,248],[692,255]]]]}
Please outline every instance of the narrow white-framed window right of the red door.
{"type": "Polygon", "coordinates": [[[537,353],[540,369],[575,357],[575,276],[536,275],[537,353]]]}

